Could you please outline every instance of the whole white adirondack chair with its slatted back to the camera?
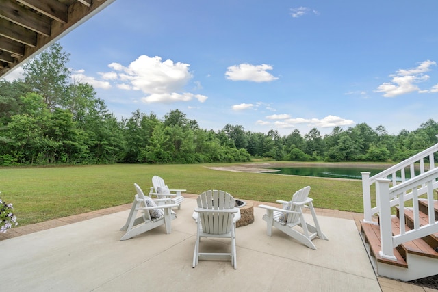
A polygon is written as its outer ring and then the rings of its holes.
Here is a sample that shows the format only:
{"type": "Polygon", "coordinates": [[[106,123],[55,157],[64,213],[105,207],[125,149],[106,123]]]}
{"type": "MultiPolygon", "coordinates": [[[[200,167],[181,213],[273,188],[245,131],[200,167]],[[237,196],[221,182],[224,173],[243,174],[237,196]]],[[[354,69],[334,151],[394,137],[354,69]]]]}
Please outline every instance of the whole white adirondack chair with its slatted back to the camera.
{"type": "Polygon", "coordinates": [[[231,260],[231,265],[237,269],[235,248],[235,220],[233,216],[239,211],[235,207],[235,199],[225,191],[204,191],[196,199],[198,213],[196,220],[197,233],[193,254],[193,267],[199,260],[231,260]],[[201,237],[226,237],[231,239],[231,252],[199,252],[201,237]]]}

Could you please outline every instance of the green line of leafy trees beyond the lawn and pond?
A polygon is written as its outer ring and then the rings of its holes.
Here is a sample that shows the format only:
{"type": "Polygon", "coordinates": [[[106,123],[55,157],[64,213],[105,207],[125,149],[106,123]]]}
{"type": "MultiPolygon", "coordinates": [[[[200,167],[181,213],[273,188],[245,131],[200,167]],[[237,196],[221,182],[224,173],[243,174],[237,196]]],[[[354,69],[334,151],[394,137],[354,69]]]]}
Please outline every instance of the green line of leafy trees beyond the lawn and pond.
{"type": "Polygon", "coordinates": [[[316,128],[284,136],[231,124],[206,130],[179,110],[118,120],[92,85],[71,81],[68,58],[53,44],[23,66],[23,79],[0,81],[0,165],[401,161],[438,142],[433,119],[397,135],[363,123],[324,136],[316,128]]]}

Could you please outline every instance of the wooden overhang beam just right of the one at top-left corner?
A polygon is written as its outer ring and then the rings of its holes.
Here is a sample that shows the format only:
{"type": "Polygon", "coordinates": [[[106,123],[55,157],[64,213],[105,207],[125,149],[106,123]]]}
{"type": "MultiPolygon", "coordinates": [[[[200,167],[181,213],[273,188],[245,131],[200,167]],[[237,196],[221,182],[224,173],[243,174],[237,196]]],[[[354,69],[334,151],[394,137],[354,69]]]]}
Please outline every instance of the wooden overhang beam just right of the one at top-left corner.
{"type": "Polygon", "coordinates": [[[16,0],[30,8],[49,16],[50,18],[67,23],[68,21],[68,6],[56,0],[16,0]]]}

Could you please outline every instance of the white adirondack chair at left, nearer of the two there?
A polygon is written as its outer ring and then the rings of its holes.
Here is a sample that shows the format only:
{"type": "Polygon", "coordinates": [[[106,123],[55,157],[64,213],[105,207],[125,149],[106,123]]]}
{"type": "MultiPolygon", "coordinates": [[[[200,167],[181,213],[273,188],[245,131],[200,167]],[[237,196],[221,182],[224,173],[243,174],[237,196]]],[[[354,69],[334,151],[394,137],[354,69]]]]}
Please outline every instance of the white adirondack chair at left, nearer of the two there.
{"type": "Polygon", "coordinates": [[[152,200],[149,196],[144,196],[142,189],[134,183],[137,194],[132,203],[126,224],[120,230],[126,230],[125,235],[120,240],[130,239],[149,231],[158,226],[165,225],[166,233],[172,232],[170,222],[177,216],[172,211],[172,207],[177,207],[169,198],[152,200]],[[137,217],[138,211],[141,216],[137,217]]]}

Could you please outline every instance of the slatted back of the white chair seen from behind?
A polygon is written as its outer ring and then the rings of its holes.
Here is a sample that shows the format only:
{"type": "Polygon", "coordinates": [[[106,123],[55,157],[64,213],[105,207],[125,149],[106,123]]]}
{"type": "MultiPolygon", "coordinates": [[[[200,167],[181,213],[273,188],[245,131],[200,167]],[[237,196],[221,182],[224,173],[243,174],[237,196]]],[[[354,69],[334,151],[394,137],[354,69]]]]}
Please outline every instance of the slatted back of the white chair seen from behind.
{"type": "MultiPolygon", "coordinates": [[[[221,210],[233,209],[235,207],[235,199],[225,191],[209,190],[204,191],[197,198],[198,207],[203,209],[221,210]]],[[[199,220],[204,233],[210,234],[225,234],[231,230],[233,223],[232,213],[200,213],[199,220]]]]}

